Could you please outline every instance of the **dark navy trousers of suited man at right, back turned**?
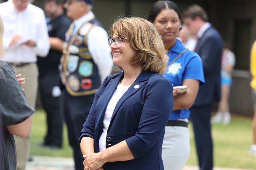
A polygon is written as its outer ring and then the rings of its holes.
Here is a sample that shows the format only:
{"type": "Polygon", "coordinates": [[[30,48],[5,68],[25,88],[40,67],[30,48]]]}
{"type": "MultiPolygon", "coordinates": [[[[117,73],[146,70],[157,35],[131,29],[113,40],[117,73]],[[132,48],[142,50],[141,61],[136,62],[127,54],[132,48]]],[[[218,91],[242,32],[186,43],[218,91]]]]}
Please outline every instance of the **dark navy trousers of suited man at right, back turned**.
{"type": "Polygon", "coordinates": [[[213,148],[210,124],[212,106],[191,107],[189,110],[200,170],[212,170],[213,148]]]}

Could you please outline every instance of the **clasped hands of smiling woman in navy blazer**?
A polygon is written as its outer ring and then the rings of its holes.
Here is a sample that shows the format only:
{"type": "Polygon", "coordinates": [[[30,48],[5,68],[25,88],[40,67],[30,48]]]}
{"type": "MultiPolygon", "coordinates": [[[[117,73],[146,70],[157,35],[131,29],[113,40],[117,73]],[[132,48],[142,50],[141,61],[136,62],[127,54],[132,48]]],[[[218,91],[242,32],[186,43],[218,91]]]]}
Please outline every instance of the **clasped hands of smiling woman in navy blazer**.
{"type": "Polygon", "coordinates": [[[83,155],[84,170],[103,170],[104,161],[100,157],[101,153],[92,153],[90,155],[83,155]]]}

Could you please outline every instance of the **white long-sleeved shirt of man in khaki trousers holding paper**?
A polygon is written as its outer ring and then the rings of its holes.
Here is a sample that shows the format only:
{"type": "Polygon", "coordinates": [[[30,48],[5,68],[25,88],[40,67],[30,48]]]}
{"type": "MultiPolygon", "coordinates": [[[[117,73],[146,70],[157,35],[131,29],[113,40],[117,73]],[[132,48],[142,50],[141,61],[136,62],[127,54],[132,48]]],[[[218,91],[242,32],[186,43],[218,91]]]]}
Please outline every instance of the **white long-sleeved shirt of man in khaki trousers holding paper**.
{"type": "MultiPolygon", "coordinates": [[[[9,63],[35,63],[36,55],[45,57],[50,49],[44,11],[35,5],[28,4],[23,11],[18,11],[12,0],[0,4],[0,15],[4,23],[5,55],[1,60],[9,63]],[[26,45],[9,46],[13,35],[22,36],[21,41],[32,39],[36,47],[26,45]]],[[[20,41],[20,42],[21,42],[20,41]]]]}

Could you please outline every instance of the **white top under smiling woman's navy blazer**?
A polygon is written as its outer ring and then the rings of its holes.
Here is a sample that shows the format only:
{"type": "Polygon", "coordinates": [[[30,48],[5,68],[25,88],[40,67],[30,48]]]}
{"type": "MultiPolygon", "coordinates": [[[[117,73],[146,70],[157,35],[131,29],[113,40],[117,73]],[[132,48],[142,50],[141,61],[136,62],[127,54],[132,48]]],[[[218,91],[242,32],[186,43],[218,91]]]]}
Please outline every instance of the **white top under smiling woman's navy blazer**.
{"type": "Polygon", "coordinates": [[[119,83],[111,99],[108,102],[108,106],[107,106],[104,120],[103,120],[103,132],[99,139],[100,152],[106,149],[108,126],[110,124],[111,117],[116,107],[116,103],[124,95],[124,93],[129,89],[129,87],[130,85],[124,86],[124,85],[121,85],[121,83],[119,83]]]}

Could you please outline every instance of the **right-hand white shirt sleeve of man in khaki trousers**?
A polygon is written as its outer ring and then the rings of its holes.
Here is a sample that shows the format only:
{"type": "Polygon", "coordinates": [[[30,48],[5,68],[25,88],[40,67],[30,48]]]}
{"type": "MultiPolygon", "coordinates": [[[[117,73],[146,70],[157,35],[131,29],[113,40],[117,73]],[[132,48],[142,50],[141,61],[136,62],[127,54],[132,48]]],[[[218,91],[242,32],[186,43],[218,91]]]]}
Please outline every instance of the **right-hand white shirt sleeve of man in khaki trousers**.
{"type": "Polygon", "coordinates": [[[37,35],[36,35],[36,47],[33,48],[36,55],[40,57],[46,57],[49,53],[50,49],[50,41],[49,41],[49,35],[48,35],[48,29],[46,24],[46,18],[44,15],[44,12],[41,11],[41,14],[38,20],[39,26],[37,29],[37,35]]]}

